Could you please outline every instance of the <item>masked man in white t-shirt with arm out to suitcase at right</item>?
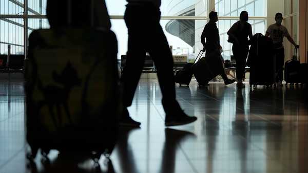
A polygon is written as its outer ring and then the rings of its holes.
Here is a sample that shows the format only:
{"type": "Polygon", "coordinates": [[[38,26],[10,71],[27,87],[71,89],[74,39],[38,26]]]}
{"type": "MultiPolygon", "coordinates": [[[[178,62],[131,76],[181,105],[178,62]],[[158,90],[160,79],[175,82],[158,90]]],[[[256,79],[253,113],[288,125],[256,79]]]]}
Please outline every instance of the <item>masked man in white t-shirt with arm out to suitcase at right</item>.
{"type": "Polygon", "coordinates": [[[276,84],[277,86],[282,86],[282,80],[283,80],[283,66],[284,66],[284,47],[283,47],[283,37],[286,37],[294,46],[296,49],[299,48],[299,46],[295,43],[293,38],[290,36],[287,29],[281,25],[283,17],[281,13],[276,13],[275,15],[276,23],[273,25],[270,25],[265,33],[265,36],[269,36],[273,39],[274,43],[274,50],[276,55],[276,84]]]}

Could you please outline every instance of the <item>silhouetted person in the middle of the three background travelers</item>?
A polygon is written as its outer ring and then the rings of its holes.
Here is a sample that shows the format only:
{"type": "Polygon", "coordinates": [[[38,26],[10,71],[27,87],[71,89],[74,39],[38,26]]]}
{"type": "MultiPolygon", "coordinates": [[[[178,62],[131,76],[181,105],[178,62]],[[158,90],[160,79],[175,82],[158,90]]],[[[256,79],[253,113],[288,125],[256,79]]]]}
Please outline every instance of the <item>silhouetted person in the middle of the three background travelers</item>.
{"type": "Polygon", "coordinates": [[[242,11],[240,20],[237,21],[227,32],[229,35],[229,42],[233,43],[232,51],[236,60],[236,76],[237,87],[242,88],[243,76],[245,74],[245,63],[249,51],[248,36],[253,37],[252,26],[247,23],[248,12],[242,11]]]}

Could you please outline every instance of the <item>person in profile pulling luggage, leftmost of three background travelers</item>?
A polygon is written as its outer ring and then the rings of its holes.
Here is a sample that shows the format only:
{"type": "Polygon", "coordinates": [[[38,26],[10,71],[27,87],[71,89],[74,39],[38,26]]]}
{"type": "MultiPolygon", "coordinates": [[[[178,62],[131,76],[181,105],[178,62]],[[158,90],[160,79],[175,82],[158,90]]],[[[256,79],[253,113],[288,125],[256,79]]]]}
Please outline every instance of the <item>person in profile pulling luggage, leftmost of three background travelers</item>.
{"type": "MultiPolygon", "coordinates": [[[[220,38],[219,38],[219,32],[217,28],[218,21],[218,15],[217,12],[211,11],[209,13],[209,22],[205,25],[202,35],[201,35],[201,43],[203,45],[203,52],[205,51],[205,56],[215,52],[222,50],[222,47],[220,46],[220,38]],[[204,39],[206,38],[206,42],[204,39]]],[[[225,69],[223,68],[223,65],[221,66],[221,77],[224,80],[225,85],[234,83],[234,79],[229,79],[225,73],[225,69]]]]}

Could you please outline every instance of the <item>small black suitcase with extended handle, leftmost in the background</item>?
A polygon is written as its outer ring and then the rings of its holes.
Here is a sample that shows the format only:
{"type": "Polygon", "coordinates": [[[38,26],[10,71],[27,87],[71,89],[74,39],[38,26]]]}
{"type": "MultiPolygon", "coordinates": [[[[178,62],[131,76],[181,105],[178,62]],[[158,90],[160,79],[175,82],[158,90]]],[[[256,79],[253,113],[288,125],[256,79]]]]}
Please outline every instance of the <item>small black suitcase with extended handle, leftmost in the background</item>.
{"type": "Polygon", "coordinates": [[[182,70],[176,73],[176,83],[180,85],[189,85],[191,78],[192,78],[192,69],[191,66],[195,64],[195,62],[203,55],[202,51],[199,52],[198,56],[196,57],[194,63],[186,63],[182,70]],[[201,55],[200,55],[201,54],[201,55]]]}

